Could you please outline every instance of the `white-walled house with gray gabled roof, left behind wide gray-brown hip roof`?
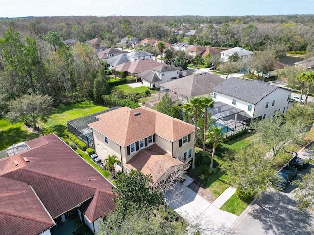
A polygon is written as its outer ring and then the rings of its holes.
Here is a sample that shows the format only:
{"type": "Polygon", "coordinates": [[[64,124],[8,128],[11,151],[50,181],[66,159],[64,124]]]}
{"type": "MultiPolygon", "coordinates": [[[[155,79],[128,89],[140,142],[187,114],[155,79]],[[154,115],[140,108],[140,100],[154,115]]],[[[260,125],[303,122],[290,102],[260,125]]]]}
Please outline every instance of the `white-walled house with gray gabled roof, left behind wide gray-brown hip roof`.
{"type": "Polygon", "coordinates": [[[144,86],[159,88],[161,83],[179,78],[181,70],[181,67],[162,64],[149,71],[137,74],[137,77],[142,79],[144,86]]]}

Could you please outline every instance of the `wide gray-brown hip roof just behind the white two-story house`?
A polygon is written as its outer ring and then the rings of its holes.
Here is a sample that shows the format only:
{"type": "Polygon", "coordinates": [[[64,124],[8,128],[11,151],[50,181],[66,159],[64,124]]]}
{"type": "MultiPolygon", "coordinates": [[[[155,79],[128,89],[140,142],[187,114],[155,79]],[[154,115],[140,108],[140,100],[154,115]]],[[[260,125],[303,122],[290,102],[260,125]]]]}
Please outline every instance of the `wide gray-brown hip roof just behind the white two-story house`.
{"type": "Polygon", "coordinates": [[[224,81],[225,79],[217,74],[202,72],[166,82],[160,86],[186,97],[195,97],[212,93],[212,89],[224,81]]]}

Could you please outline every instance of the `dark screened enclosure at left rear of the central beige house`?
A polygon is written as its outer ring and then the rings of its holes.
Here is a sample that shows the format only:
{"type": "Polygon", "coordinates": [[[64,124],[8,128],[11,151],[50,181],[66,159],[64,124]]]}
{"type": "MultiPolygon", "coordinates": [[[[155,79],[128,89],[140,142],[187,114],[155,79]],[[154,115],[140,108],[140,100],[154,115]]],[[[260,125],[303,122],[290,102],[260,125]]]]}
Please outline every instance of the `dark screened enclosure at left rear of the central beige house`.
{"type": "Polygon", "coordinates": [[[88,148],[94,148],[93,141],[93,132],[92,129],[88,126],[88,124],[93,123],[95,121],[99,121],[99,118],[96,118],[97,115],[104,114],[114,109],[118,109],[120,106],[116,106],[110,109],[106,109],[104,111],[94,113],[82,118],[77,118],[67,122],[68,130],[78,137],[81,141],[86,143],[88,148]]]}

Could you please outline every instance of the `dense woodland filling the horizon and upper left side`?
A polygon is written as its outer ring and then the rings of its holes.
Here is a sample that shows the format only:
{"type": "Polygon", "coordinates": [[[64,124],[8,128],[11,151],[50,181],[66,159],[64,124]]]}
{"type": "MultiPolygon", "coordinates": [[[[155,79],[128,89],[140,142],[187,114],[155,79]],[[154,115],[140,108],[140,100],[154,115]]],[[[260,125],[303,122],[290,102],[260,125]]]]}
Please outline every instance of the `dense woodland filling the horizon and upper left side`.
{"type": "Polygon", "coordinates": [[[105,48],[128,35],[175,43],[184,36],[175,35],[173,29],[184,27],[196,29],[187,39],[193,44],[251,51],[281,48],[311,56],[313,22],[314,15],[0,18],[1,112],[25,94],[49,95],[55,103],[94,99],[102,63],[85,42],[96,37],[105,48]],[[62,43],[67,39],[81,43],[70,48],[62,43]]]}

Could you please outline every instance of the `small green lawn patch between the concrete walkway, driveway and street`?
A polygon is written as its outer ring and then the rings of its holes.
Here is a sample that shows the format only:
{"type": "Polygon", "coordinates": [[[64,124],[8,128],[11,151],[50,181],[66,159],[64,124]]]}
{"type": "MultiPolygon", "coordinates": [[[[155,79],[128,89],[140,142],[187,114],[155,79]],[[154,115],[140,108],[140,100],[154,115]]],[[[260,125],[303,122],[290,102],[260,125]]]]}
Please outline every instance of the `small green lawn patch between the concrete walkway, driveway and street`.
{"type": "Polygon", "coordinates": [[[220,209],[239,216],[252,201],[253,198],[242,201],[235,193],[228,199],[228,201],[225,202],[224,205],[222,205],[220,209]]]}

